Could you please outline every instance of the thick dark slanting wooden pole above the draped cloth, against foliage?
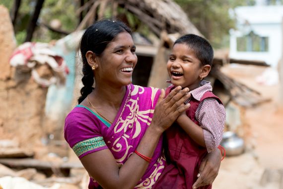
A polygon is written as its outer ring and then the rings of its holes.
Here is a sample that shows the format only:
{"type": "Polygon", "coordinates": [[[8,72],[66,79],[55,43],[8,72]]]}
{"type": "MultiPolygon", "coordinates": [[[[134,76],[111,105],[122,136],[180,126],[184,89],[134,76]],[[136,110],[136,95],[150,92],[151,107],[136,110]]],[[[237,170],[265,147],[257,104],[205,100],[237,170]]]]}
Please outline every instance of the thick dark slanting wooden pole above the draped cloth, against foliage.
{"type": "Polygon", "coordinates": [[[36,22],[37,22],[37,19],[39,17],[40,10],[42,8],[43,2],[44,2],[44,0],[37,0],[37,2],[36,2],[36,6],[35,6],[35,9],[34,9],[33,15],[31,17],[31,19],[29,20],[29,24],[28,24],[28,27],[27,27],[25,42],[31,41],[31,39],[32,39],[32,35],[33,35],[34,30],[35,30],[36,22]]]}

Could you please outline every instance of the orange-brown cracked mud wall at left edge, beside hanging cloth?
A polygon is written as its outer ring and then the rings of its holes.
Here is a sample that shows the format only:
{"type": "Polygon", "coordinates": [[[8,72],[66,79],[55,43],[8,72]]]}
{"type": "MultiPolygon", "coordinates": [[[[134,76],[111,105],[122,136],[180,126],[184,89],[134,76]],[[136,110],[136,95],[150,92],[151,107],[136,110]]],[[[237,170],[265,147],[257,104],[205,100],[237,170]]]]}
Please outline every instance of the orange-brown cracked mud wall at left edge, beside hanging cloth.
{"type": "MultiPolygon", "coordinates": [[[[9,65],[16,47],[8,9],[0,5],[0,139],[14,139],[20,146],[40,144],[48,88],[42,88],[30,72],[20,73],[9,65]]],[[[41,76],[51,74],[47,66],[37,68],[41,76]]]]}

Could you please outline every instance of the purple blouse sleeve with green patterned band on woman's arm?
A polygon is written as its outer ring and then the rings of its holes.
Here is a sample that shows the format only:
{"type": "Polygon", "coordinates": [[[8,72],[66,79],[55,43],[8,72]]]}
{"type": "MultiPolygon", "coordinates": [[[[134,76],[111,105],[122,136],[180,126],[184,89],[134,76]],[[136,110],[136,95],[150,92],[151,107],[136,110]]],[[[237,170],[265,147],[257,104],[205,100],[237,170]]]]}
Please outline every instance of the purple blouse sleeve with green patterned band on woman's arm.
{"type": "Polygon", "coordinates": [[[73,111],[67,115],[64,137],[79,159],[107,149],[99,126],[100,122],[91,113],[73,111]]]}

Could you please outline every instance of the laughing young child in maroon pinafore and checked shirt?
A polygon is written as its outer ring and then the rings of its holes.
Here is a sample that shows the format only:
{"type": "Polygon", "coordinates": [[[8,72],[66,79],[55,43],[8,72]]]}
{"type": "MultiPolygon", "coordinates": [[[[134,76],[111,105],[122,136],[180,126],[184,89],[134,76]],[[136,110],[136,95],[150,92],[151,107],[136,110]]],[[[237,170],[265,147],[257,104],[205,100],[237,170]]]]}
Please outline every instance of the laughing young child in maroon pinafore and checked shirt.
{"type": "MultiPolygon", "coordinates": [[[[172,86],[189,88],[191,104],[186,113],[166,130],[167,163],[156,189],[192,189],[203,157],[222,140],[226,113],[221,100],[212,93],[210,82],[203,79],[211,71],[213,49],[204,38],[188,34],[177,39],[167,62],[172,86]]],[[[202,189],[211,189],[205,186],[202,189]]]]}

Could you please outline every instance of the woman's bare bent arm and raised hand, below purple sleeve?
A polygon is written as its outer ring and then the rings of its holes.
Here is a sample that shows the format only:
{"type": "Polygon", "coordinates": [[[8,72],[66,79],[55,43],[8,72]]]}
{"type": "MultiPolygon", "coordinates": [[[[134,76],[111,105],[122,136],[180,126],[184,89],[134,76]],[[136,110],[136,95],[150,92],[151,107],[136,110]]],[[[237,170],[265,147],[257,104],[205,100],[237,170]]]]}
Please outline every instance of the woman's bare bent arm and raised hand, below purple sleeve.
{"type": "MultiPolygon", "coordinates": [[[[155,106],[151,124],[137,148],[138,152],[144,156],[152,157],[160,135],[176,120],[180,113],[188,108],[189,105],[184,104],[189,95],[188,91],[188,88],[181,91],[181,87],[177,87],[163,99],[165,93],[162,90],[155,106]]],[[[134,188],[148,166],[147,161],[134,153],[119,169],[115,158],[108,149],[85,155],[80,161],[88,174],[104,189],[134,188]]]]}

